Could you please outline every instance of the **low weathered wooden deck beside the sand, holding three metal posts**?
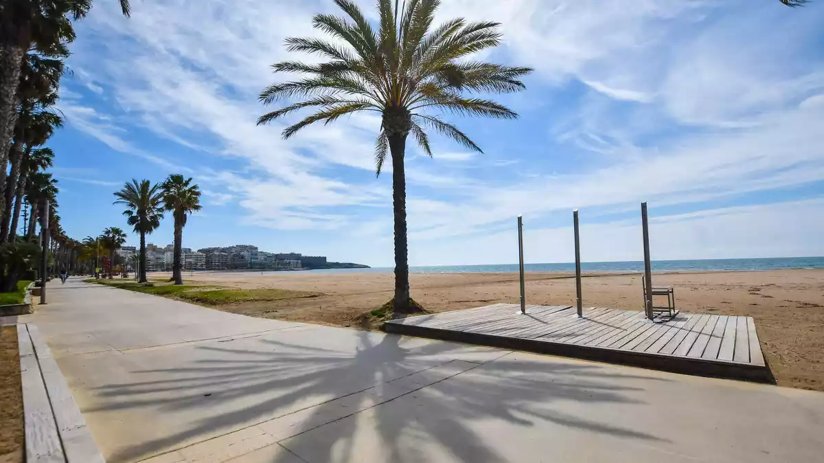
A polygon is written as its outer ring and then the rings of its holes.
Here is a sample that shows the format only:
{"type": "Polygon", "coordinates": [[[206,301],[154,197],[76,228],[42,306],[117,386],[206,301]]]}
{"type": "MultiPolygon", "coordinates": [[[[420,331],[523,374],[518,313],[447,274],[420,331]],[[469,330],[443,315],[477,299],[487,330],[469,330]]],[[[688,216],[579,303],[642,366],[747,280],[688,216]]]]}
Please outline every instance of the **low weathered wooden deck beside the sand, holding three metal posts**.
{"type": "Polygon", "coordinates": [[[668,372],[775,383],[749,316],[678,313],[651,321],[642,311],[495,304],[391,320],[390,333],[513,348],[668,372]]]}

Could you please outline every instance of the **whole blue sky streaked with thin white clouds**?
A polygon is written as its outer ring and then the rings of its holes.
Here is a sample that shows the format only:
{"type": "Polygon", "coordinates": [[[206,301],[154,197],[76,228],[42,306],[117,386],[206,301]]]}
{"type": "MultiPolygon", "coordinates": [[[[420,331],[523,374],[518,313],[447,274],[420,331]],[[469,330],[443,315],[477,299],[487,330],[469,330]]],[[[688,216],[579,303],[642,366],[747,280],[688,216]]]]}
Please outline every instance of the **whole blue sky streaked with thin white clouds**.
{"type": "MultiPolygon", "coordinates": [[[[301,58],[283,39],[318,35],[311,16],[333,2],[143,0],[129,19],[116,3],[77,23],[49,142],[70,236],[125,227],[111,204],[125,180],[180,172],[204,189],[184,246],[392,264],[379,119],[288,141],[291,119],[255,126],[257,95],[283,78],[269,64],[301,58]]],[[[483,154],[410,144],[410,264],[515,262],[519,213],[527,262],[572,260],[573,208],[583,260],[639,260],[644,200],[653,259],[824,255],[824,2],[443,0],[438,18],[454,16],[503,23],[503,46],[476,58],[536,72],[500,98],[521,119],[449,116],[483,154]]]]}

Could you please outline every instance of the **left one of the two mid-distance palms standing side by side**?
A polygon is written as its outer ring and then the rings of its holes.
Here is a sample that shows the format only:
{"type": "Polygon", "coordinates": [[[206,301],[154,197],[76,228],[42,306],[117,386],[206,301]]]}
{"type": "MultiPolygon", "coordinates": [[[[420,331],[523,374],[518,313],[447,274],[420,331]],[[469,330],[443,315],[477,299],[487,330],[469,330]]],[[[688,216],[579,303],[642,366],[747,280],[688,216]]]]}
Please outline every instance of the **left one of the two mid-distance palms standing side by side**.
{"type": "Polygon", "coordinates": [[[149,180],[133,179],[126,182],[123,189],[115,192],[115,204],[125,204],[128,209],[123,215],[126,222],[140,234],[140,277],[138,283],[146,283],[146,235],[160,227],[163,218],[161,185],[152,185],[149,180]]]}

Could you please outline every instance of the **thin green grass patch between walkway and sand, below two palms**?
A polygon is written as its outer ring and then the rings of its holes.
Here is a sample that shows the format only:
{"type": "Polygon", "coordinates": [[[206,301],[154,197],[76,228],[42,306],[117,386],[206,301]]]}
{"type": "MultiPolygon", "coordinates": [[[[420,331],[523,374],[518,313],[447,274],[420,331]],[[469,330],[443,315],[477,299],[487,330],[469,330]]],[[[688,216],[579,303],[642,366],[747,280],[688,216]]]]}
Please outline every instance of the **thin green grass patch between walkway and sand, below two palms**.
{"type": "Polygon", "coordinates": [[[169,297],[180,301],[194,302],[206,306],[226,306],[241,302],[272,302],[298,297],[318,297],[319,293],[289,291],[287,289],[236,289],[219,286],[190,286],[163,283],[136,283],[117,280],[96,280],[90,278],[87,283],[99,283],[115,288],[128,289],[157,296],[169,297]]]}

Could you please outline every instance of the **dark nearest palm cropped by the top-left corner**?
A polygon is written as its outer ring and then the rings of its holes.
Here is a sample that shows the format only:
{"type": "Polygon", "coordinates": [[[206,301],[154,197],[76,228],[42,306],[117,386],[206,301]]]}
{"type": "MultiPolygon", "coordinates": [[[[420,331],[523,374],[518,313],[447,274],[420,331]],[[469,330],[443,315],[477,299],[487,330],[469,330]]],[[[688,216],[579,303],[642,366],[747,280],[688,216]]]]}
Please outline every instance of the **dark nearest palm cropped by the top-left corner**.
{"type": "MultiPolygon", "coordinates": [[[[119,0],[129,16],[129,0],[119,0]]],[[[6,189],[8,149],[20,97],[17,85],[29,49],[49,50],[74,40],[71,16],[86,16],[91,0],[14,0],[0,3],[0,197],[6,189]]],[[[0,203],[0,208],[3,205],[0,203]]]]}

